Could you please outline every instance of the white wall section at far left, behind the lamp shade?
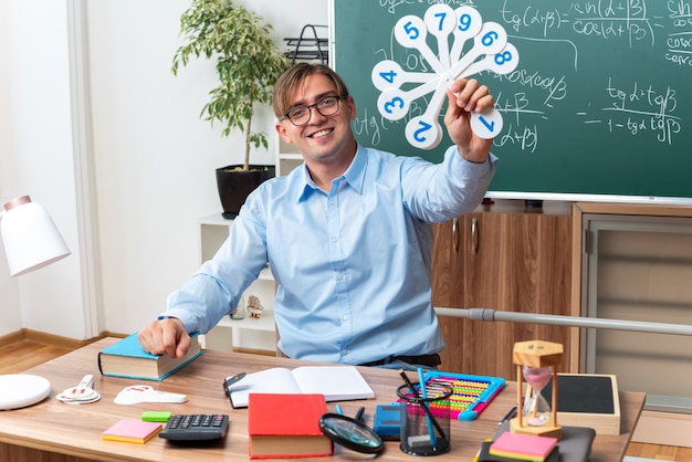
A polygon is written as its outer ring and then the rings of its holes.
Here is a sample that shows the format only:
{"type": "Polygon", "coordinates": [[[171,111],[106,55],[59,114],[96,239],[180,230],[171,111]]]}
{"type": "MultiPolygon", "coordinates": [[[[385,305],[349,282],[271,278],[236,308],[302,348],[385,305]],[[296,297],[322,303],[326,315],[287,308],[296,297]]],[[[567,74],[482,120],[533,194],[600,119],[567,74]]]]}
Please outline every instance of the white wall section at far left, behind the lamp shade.
{"type": "Polygon", "coordinates": [[[0,263],[0,335],[21,327],[76,338],[85,333],[66,11],[65,2],[52,0],[0,2],[0,196],[30,195],[43,204],[72,250],[18,279],[0,263]]]}

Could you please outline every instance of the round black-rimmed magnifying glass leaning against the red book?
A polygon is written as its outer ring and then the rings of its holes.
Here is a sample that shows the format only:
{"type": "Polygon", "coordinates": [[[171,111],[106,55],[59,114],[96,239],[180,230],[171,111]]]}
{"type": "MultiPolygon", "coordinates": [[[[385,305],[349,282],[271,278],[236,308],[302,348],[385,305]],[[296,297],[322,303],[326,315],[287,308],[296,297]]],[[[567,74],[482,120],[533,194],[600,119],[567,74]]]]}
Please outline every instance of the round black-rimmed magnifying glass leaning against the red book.
{"type": "Polygon", "coordinates": [[[319,429],[335,443],[357,452],[376,454],[385,449],[375,430],[348,416],[327,412],[319,418],[319,429]]]}

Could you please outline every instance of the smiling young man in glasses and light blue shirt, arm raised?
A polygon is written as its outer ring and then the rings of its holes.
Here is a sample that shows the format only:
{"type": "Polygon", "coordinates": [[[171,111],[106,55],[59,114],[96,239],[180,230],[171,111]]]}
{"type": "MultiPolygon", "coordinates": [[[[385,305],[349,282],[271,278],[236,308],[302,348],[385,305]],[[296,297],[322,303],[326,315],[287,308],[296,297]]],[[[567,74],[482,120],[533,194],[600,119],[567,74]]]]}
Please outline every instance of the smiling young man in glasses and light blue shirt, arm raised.
{"type": "Polygon", "coordinates": [[[432,223],[473,210],[496,158],[470,115],[493,106],[487,87],[459,80],[442,164],[358,145],[356,103],[329,67],[301,63],[274,87],[276,132],[304,165],[262,183],[212,260],[139,333],[150,353],[180,357],[237,306],[270,263],[277,282],[279,348],[297,359],[434,367],[444,340],[431,304],[432,223]],[[403,364],[402,364],[403,363],[403,364]]]}

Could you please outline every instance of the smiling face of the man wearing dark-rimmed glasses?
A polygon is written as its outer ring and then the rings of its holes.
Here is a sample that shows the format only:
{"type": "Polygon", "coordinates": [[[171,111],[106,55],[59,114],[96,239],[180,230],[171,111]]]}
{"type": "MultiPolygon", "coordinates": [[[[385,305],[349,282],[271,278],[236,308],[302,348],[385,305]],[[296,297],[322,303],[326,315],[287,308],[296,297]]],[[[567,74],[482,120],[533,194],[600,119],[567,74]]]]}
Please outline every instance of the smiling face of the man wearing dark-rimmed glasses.
{"type": "MultiPolygon", "coordinates": [[[[340,96],[332,81],[322,74],[308,75],[291,94],[292,108],[310,106],[325,96],[340,96]]],[[[276,124],[276,132],[286,143],[295,145],[306,162],[328,161],[329,159],[355,153],[350,132],[350,120],[356,108],[353,97],[338,99],[338,111],[323,116],[316,107],[310,108],[310,119],[305,125],[295,126],[289,118],[276,124]]]]}

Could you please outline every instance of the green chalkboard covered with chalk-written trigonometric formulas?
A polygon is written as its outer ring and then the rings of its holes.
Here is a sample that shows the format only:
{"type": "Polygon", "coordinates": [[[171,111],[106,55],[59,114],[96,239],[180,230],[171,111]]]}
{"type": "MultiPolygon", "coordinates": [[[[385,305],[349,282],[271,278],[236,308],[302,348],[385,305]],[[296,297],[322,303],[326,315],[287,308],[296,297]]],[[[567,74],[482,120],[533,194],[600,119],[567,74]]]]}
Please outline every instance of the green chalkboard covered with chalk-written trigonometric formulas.
{"type": "MultiPolygon", "coordinates": [[[[440,161],[447,135],[430,150],[405,137],[426,97],[403,119],[386,119],[370,78],[382,60],[434,73],[394,34],[400,18],[422,18],[434,2],[332,1],[334,67],[356,99],[357,139],[440,161]]],[[[493,140],[501,161],[490,197],[692,202],[692,0],[444,3],[501,24],[520,54],[506,75],[473,75],[491,88],[504,120],[493,140]]],[[[437,42],[430,48],[437,52],[437,42]]]]}

